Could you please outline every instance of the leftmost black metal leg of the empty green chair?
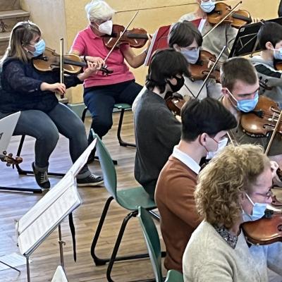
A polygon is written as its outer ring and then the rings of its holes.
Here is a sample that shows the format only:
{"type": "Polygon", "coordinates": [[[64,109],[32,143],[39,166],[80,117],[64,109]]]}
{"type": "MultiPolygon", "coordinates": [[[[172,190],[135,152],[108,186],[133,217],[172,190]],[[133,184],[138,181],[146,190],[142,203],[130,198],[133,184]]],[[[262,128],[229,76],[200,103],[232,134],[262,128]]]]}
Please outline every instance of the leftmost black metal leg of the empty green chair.
{"type": "Polygon", "coordinates": [[[94,260],[94,264],[96,266],[104,265],[104,264],[106,264],[106,262],[109,262],[109,259],[100,259],[99,257],[97,257],[97,255],[95,254],[95,247],[97,245],[97,241],[98,241],[99,235],[102,231],[102,227],[103,227],[103,224],[104,224],[104,221],[105,221],[105,218],[106,218],[106,214],[108,212],[109,205],[111,204],[112,200],[114,200],[114,197],[109,197],[108,200],[106,200],[106,203],[104,205],[104,209],[103,209],[102,215],[100,217],[100,220],[99,220],[99,223],[98,223],[98,226],[97,226],[97,230],[95,232],[95,235],[94,235],[94,238],[93,238],[93,241],[92,241],[92,245],[91,245],[91,256],[92,256],[92,258],[94,260]]]}

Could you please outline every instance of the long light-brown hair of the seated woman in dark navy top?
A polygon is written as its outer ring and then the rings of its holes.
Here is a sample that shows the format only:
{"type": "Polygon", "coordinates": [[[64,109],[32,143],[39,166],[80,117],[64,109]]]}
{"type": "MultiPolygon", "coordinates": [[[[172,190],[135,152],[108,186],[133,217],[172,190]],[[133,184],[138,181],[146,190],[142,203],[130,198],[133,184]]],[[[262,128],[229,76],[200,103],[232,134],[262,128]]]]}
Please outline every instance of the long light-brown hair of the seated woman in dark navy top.
{"type": "Polygon", "coordinates": [[[17,58],[20,59],[20,61],[27,62],[27,51],[25,51],[23,46],[30,44],[30,41],[35,35],[41,36],[41,31],[35,23],[30,21],[17,23],[11,31],[9,44],[0,61],[0,65],[3,65],[7,57],[17,58]]]}

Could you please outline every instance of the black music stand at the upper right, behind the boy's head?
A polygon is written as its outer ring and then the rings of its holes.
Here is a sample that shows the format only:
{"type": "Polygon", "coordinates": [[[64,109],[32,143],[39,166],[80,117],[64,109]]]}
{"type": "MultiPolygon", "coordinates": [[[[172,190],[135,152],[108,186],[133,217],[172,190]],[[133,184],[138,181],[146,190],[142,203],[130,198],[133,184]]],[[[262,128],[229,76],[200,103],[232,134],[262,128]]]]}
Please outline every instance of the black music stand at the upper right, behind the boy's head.
{"type": "MultiPolygon", "coordinates": [[[[264,20],[263,23],[274,22],[282,25],[282,18],[274,18],[272,20],[264,20]]],[[[238,30],[235,42],[231,49],[228,58],[235,56],[245,56],[248,54],[253,54],[262,49],[259,47],[257,41],[257,33],[260,27],[263,25],[262,22],[250,23],[250,25],[243,25],[238,30]]]]}

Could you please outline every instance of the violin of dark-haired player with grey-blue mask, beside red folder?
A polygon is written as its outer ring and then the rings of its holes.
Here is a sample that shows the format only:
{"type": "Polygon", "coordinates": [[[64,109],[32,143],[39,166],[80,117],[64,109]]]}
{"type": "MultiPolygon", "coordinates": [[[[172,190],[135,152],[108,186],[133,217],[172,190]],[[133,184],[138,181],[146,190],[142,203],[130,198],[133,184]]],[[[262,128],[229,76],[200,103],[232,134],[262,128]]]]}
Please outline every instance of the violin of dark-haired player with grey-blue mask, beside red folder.
{"type": "MultiPolygon", "coordinates": [[[[209,70],[212,68],[216,56],[209,51],[201,50],[199,60],[195,64],[190,64],[190,80],[204,80],[207,77],[209,70]]],[[[214,68],[209,78],[214,78],[216,82],[220,82],[219,68],[214,68]]]]}

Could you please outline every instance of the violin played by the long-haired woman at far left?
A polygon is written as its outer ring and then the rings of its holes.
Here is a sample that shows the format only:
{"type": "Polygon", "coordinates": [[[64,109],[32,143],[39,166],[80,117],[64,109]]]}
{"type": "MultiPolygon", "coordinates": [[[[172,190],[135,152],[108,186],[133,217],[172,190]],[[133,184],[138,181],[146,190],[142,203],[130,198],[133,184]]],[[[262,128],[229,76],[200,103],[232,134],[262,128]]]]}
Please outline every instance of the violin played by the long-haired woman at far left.
{"type": "MultiPolygon", "coordinates": [[[[46,48],[42,56],[38,56],[32,59],[32,64],[37,71],[54,71],[60,67],[60,55],[56,54],[56,51],[50,48],[46,48]]],[[[63,55],[63,71],[66,73],[80,73],[81,68],[87,67],[87,63],[80,59],[80,56],[75,54],[63,55]]],[[[102,73],[109,75],[113,71],[102,67],[102,73]]]]}

